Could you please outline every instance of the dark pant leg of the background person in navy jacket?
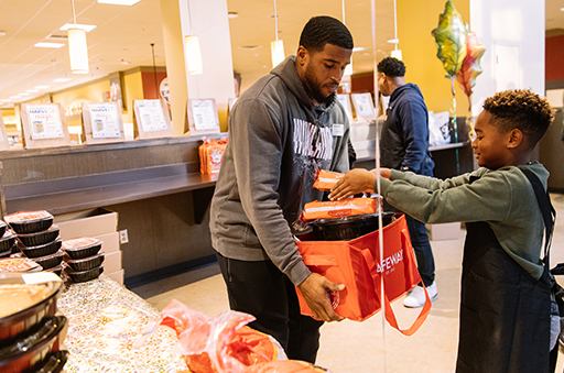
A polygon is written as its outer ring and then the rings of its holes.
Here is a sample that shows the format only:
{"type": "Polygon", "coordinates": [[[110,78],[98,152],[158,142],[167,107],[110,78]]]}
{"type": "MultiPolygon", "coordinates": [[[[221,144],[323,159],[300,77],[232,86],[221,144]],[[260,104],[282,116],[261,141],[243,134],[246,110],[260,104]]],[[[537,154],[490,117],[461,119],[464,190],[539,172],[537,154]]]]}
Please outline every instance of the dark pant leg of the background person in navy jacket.
{"type": "Polygon", "coordinates": [[[429,242],[427,229],[425,223],[405,215],[408,229],[410,231],[411,244],[417,259],[417,271],[425,286],[430,286],[435,281],[435,259],[429,242]]]}

